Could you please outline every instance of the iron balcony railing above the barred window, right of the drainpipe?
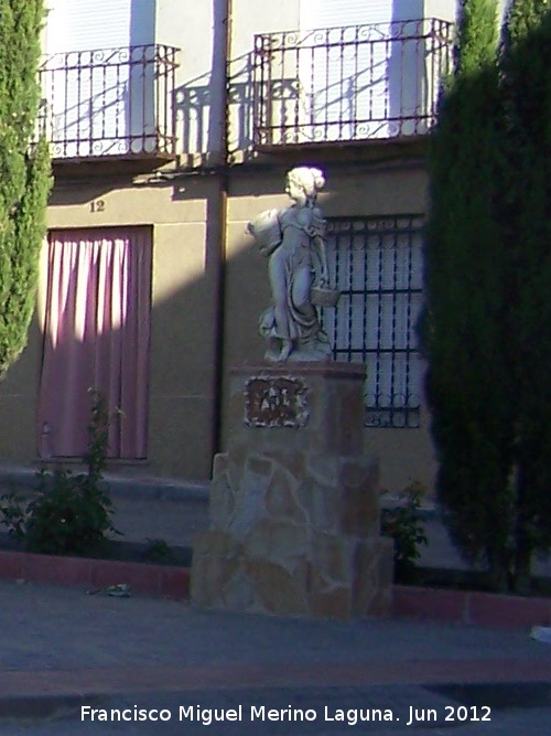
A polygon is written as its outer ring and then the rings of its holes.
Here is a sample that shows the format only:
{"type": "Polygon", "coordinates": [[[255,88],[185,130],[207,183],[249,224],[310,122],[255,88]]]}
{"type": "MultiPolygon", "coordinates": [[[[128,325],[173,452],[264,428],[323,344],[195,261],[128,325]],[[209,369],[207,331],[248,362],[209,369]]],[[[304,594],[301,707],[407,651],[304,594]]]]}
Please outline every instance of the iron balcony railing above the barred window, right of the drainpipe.
{"type": "Polygon", "coordinates": [[[452,58],[435,19],[285,31],[255,38],[259,147],[425,134],[452,58]]]}

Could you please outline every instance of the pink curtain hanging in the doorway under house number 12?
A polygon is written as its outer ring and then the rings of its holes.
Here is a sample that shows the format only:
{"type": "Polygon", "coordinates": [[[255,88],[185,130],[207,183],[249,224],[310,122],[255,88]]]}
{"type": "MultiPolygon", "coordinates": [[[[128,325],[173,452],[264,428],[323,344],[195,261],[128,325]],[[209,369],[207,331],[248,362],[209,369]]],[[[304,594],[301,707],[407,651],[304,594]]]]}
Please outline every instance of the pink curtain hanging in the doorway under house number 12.
{"type": "Polygon", "coordinates": [[[109,405],[109,456],[145,458],[151,231],[54,231],[47,247],[39,454],[86,451],[95,388],[109,405]]]}

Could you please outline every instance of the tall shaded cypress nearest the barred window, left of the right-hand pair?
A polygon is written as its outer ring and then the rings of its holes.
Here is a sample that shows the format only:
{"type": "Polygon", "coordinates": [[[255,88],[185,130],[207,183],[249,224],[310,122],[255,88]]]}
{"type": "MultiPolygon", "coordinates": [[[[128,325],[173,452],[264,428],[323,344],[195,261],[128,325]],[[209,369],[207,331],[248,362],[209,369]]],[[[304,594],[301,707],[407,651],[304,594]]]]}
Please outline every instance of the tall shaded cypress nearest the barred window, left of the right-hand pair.
{"type": "Polygon", "coordinates": [[[444,522],[465,558],[485,564],[491,586],[505,589],[514,498],[496,217],[503,136],[497,46],[496,1],[464,0],[455,70],[430,141],[421,341],[444,522]]]}

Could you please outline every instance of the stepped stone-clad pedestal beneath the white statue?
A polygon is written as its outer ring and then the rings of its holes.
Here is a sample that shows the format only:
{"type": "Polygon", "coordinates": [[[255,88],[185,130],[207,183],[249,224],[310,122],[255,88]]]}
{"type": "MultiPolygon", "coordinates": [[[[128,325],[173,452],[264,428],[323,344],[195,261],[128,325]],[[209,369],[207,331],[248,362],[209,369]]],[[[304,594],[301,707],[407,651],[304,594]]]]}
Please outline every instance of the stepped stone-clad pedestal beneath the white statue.
{"type": "Polygon", "coordinates": [[[392,543],[379,536],[378,462],[363,454],[364,366],[234,369],[228,452],[214,460],[210,530],[192,600],[240,611],[388,612],[392,543]]]}

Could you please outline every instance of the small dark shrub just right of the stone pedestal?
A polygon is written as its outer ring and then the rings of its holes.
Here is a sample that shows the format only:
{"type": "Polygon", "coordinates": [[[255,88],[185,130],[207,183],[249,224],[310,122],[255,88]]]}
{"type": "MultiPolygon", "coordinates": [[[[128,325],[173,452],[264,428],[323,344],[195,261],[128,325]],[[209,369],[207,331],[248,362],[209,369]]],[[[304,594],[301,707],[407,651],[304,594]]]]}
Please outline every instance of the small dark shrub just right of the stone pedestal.
{"type": "Polygon", "coordinates": [[[395,577],[411,580],[415,576],[420,545],[428,544],[424,524],[420,516],[424,487],[413,481],[399,495],[399,503],[381,511],[381,534],[395,541],[395,577]]]}

